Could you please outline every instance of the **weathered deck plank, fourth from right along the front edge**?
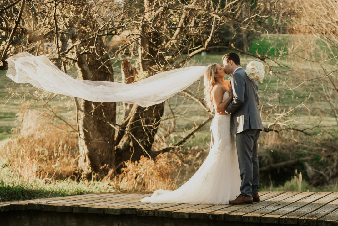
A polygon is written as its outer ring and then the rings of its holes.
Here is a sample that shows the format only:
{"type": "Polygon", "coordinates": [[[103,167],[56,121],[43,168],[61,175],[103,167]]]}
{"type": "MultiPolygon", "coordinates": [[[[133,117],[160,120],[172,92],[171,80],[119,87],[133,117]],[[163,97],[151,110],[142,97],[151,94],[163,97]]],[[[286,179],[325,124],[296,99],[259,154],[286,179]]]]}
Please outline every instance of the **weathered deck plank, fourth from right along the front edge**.
{"type": "Polygon", "coordinates": [[[292,211],[295,211],[303,206],[308,205],[309,203],[318,200],[324,196],[327,196],[332,192],[316,192],[312,194],[309,197],[306,197],[304,199],[298,200],[290,205],[287,205],[279,210],[273,211],[271,213],[265,214],[264,216],[261,217],[261,222],[262,223],[272,223],[272,224],[278,224],[280,217],[283,215],[286,215],[292,211]]]}

